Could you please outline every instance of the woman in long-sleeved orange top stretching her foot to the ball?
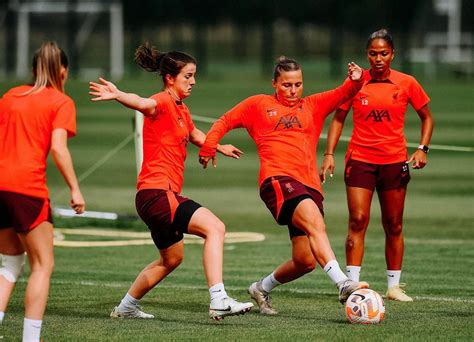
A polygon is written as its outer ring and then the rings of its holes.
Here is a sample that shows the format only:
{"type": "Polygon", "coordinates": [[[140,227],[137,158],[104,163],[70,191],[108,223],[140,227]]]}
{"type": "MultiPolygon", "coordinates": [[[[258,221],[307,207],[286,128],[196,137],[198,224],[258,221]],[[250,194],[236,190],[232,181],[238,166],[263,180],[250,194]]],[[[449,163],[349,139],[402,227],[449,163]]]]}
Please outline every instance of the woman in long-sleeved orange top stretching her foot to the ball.
{"type": "Polygon", "coordinates": [[[199,152],[204,168],[215,165],[219,140],[244,127],[260,157],[260,197],[280,225],[288,225],[292,258],[250,285],[260,313],[276,314],[269,293],[311,272],[320,264],[339,289],[339,299],[367,283],[349,280],[341,271],[326,235],[323,196],[316,169],[316,148],[326,116],[358,91],[362,69],[350,63],[349,79],[334,90],[302,97],[303,74],[293,59],[280,57],[273,77],[274,95],[247,98],[214,123],[199,152]]]}

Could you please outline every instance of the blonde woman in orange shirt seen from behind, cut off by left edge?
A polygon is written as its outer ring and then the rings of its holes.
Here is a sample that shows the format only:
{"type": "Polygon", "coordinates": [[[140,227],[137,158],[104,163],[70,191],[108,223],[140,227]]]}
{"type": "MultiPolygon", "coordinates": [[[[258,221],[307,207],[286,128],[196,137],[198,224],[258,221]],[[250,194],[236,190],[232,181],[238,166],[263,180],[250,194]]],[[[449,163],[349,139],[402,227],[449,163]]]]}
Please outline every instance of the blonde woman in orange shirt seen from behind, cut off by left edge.
{"type": "Polygon", "coordinates": [[[31,274],[23,341],[39,341],[54,266],[46,187],[50,151],[71,191],[71,207],[78,214],[84,211],[67,147],[67,138],[76,133],[74,102],[64,93],[67,67],[56,43],[44,43],[33,58],[33,85],[12,88],[0,99],[0,324],[26,252],[31,274]]]}

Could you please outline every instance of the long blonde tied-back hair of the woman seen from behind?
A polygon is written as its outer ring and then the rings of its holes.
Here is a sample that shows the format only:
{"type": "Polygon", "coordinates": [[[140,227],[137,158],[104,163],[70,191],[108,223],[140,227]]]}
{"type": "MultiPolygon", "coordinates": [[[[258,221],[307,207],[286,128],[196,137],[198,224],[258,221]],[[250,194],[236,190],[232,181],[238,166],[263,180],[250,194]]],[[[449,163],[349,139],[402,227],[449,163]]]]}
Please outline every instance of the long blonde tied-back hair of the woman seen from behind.
{"type": "Polygon", "coordinates": [[[68,67],[64,51],[55,42],[43,43],[33,56],[33,88],[24,95],[37,93],[44,87],[53,87],[64,93],[61,67],[68,67]]]}

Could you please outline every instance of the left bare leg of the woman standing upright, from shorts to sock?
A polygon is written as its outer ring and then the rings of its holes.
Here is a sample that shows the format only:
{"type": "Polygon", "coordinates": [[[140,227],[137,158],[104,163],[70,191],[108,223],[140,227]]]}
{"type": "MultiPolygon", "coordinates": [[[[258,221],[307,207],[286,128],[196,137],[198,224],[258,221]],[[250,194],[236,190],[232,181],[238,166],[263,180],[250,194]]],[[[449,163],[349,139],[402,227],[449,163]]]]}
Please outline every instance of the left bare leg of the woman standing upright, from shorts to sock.
{"type": "Polygon", "coordinates": [[[346,187],[349,208],[349,229],[346,239],[347,265],[360,266],[364,257],[364,239],[370,219],[373,191],[346,187]]]}

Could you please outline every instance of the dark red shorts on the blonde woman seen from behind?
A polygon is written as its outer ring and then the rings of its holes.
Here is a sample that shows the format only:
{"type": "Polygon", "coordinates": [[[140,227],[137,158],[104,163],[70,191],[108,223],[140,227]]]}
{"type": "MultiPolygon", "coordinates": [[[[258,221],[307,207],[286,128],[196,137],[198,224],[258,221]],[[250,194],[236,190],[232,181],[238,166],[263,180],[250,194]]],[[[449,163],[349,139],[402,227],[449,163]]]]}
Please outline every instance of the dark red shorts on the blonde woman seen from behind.
{"type": "Polygon", "coordinates": [[[48,198],[0,190],[0,229],[27,233],[44,221],[53,223],[48,198]]]}

